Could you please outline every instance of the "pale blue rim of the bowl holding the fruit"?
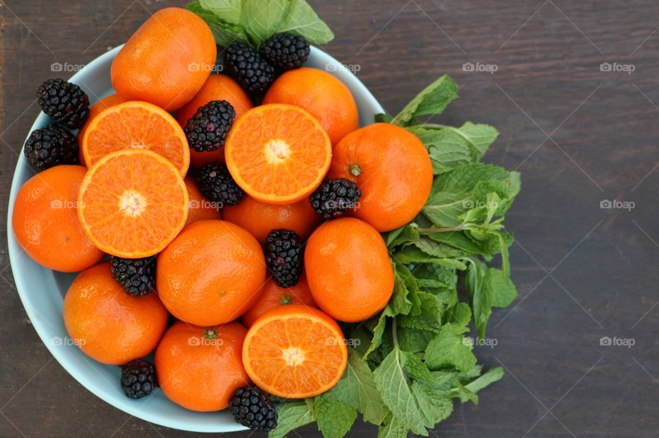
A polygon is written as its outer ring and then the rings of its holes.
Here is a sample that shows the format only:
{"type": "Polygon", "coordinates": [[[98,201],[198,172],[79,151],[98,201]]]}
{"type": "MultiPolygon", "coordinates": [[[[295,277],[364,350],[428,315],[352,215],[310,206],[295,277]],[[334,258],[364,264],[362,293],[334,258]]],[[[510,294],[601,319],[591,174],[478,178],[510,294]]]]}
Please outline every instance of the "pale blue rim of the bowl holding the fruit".
{"type": "MultiPolygon", "coordinates": [[[[70,82],[73,83],[78,83],[81,77],[84,77],[87,71],[94,69],[97,64],[102,64],[104,62],[110,62],[119,50],[122,49],[124,45],[119,45],[109,51],[106,51],[106,53],[103,53],[101,56],[98,56],[89,64],[86,64],[80,71],[76,72],[73,76],[69,78],[70,82]]],[[[329,71],[330,74],[340,72],[340,71],[347,71],[345,69],[345,66],[338,62],[334,57],[329,55],[326,51],[323,49],[319,49],[317,47],[312,46],[311,47],[312,51],[312,56],[319,58],[323,64],[325,64],[325,70],[327,71],[327,66],[332,65],[332,71],[329,71]]],[[[370,106],[373,106],[376,110],[379,112],[384,112],[384,108],[378,103],[377,99],[373,96],[371,91],[359,80],[356,75],[350,73],[347,71],[347,75],[336,75],[333,74],[335,77],[338,77],[341,82],[343,82],[346,86],[348,86],[352,93],[355,93],[355,90],[360,90],[359,95],[355,95],[356,100],[359,99],[365,99],[368,101],[368,104],[370,106]]],[[[361,114],[360,114],[361,115],[361,114]]],[[[32,126],[30,127],[30,131],[27,132],[27,136],[25,137],[25,140],[30,136],[30,133],[36,129],[36,127],[45,125],[49,121],[49,118],[44,112],[40,112],[36,119],[34,120],[34,123],[32,123],[32,126]]],[[[372,123],[372,122],[371,122],[372,123]]],[[[23,142],[25,144],[25,141],[23,142]]],[[[133,417],[137,417],[139,419],[143,419],[146,422],[150,422],[153,424],[158,424],[160,426],[165,426],[168,428],[173,428],[177,430],[187,430],[190,432],[197,432],[197,433],[226,433],[226,432],[235,432],[239,430],[246,430],[246,428],[238,423],[235,424],[235,427],[227,427],[226,425],[222,426],[222,424],[214,424],[213,426],[209,426],[207,424],[192,424],[189,422],[181,422],[176,419],[170,419],[170,417],[167,417],[166,415],[154,415],[150,413],[150,411],[145,411],[141,409],[142,405],[135,406],[133,404],[122,404],[119,402],[117,399],[117,396],[115,393],[110,393],[109,391],[106,390],[106,387],[104,385],[97,385],[97,383],[94,381],[93,378],[89,376],[88,373],[84,372],[84,370],[81,368],[81,362],[78,360],[78,358],[74,355],[68,354],[66,349],[62,348],[56,348],[56,345],[50,342],[52,339],[51,336],[51,331],[52,328],[49,328],[49,323],[45,321],[40,315],[38,315],[38,311],[33,308],[31,305],[32,300],[34,300],[34,293],[28,292],[30,290],[30,285],[29,285],[29,280],[30,278],[25,276],[25,273],[21,271],[21,267],[19,266],[20,262],[17,260],[18,256],[23,252],[23,248],[19,245],[19,243],[16,241],[16,237],[14,235],[14,227],[12,223],[12,216],[14,213],[14,203],[16,202],[16,195],[18,194],[21,186],[20,180],[23,178],[22,174],[25,169],[30,169],[30,165],[27,162],[27,159],[25,158],[25,154],[23,154],[23,145],[21,145],[21,151],[19,153],[19,159],[16,162],[16,167],[14,169],[14,175],[12,177],[12,186],[10,189],[10,196],[9,196],[9,205],[8,205],[8,211],[7,211],[7,242],[8,242],[8,252],[9,252],[9,258],[10,258],[10,264],[12,267],[12,275],[14,277],[14,282],[16,284],[16,290],[19,293],[19,297],[21,298],[21,303],[23,304],[23,308],[25,308],[25,313],[27,313],[27,317],[30,318],[30,321],[32,323],[32,326],[34,327],[34,330],[36,330],[36,333],[38,334],[39,338],[49,350],[50,354],[60,363],[60,365],[69,373],[80,385],[84,387],[87,391],[93,393],[95,396],[103,400],[104,402],[110,404],[111,406],[114,406],[116,409],[119,409],[120,411],[124,411],[125,413],[128,413],[128,415],[132,415],[133,417]]],[[[30,176],[29,178],[32,178],[30,176]]],[[[35,262],[32,262],[35,263],[35,262]]],[[[73,348],[77,348],[73,346],[73,348]]],[[[90,358],[91,360],[91,358],[90,358]]],[[[85,365],[86,366],[86,365],[85,365]]],[[[150,397],[147,399],[150,400],[150,397]]],[[[184,409],[181,406],[180,409],[184,409]]]]}

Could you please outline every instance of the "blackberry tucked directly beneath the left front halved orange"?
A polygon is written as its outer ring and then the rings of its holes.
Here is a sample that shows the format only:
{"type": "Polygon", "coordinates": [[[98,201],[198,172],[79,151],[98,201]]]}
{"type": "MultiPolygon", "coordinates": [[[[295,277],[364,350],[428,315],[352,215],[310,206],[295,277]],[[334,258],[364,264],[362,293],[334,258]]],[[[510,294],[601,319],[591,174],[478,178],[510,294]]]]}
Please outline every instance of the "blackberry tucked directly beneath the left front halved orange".
{"type": "Polygon", "coordinates": [[[112,278],[133,297],[141,297],[156,290],[156,258],[110,258],[112,278]]]}

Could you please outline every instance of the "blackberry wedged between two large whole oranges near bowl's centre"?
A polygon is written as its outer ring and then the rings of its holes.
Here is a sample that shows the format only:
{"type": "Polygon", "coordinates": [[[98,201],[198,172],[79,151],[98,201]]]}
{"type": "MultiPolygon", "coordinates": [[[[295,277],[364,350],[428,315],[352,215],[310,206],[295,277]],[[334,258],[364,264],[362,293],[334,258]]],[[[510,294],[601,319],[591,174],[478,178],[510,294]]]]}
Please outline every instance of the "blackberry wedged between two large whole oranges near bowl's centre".
{"type": "Polygon", "coordinates": [[[294,231],[272,230],[266,237],[266,265],[279,287],[293,287],[302,273],[303,243],[294,231]]]}

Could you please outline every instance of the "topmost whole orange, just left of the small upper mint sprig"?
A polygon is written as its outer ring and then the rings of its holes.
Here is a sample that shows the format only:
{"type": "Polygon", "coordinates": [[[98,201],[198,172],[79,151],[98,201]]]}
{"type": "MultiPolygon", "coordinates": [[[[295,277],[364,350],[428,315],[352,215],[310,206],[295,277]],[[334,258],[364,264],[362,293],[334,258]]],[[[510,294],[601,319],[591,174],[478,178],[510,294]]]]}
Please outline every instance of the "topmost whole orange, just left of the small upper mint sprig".
{"type": "Polygon", "coordinates": [[[215,38],[203,19],[182,8],[161,9],[117,53],[112,85],[126,100],[174,111],[197,94],[216,58],[215,38]]]}

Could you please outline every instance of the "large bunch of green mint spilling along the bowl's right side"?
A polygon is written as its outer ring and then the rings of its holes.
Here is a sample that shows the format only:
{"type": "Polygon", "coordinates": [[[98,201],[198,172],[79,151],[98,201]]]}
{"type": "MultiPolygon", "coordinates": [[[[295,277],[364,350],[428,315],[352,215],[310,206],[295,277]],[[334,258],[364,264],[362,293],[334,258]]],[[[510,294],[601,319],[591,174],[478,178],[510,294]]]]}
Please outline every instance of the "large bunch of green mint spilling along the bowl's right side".
{"type": "Polygon", "coordinates": [[[380,315],[343,325],[354,341],[343,377],[313,399],[283,400],[270,438],[314,420],[325,438],[340,438],[357,413],[379,426],[378,437],[427,436],[451,415],[454,399],[477,404],[478,391],[502,378],[501,367],[483,373],[468,335],[473,324],[484,339],[492,309],[517,296],[509,278],[513,237],[503,221],[520,191],[520,174],[481,162],[498,136],[494,127],[419,119],[441,114],[458,88],[444,75],[395,117],[375,116],[426,145],[432,191],[413,222],[384,234],[395,289],[380,315]]]}

